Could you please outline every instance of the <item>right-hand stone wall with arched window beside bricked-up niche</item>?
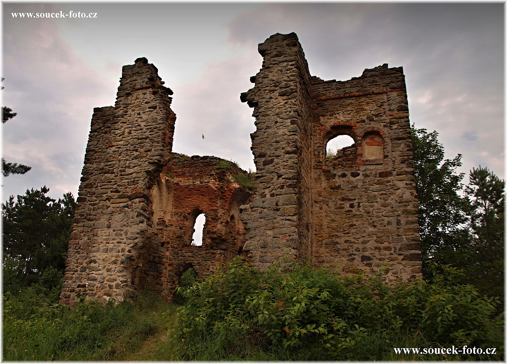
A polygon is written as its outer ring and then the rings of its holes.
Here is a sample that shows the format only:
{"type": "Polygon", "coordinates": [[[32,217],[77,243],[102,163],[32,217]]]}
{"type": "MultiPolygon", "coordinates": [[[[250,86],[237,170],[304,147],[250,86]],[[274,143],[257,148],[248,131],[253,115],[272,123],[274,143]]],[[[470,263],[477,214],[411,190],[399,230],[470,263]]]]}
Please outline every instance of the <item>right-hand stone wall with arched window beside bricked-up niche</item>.
{"type": "Polygon", "coordinates": [[[405,79],[387,64],[349,81],[313,79],[316,261],[387,279],[421,273],[405,79]],[[355,145],[326,157],[327,142],[355,145]]]}

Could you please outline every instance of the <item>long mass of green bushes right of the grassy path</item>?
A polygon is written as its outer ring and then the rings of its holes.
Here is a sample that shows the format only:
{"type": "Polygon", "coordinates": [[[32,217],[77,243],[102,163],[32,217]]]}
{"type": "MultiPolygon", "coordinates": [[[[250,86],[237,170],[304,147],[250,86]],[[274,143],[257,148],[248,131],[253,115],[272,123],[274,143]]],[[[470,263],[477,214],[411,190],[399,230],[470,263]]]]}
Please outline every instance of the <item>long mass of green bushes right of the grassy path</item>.
{"type": "Polygon", "coordinates": [[[191,289],[178,288],[186,304],[175,342],[182,360],[401,360],[393,348],[452,345],[496,347],[497,355],[446,359],[503,358],[496,299],[453,285],[457,273],[448,274],[385,284],[297,264],[259,274],[236,259],[191,289]]]}

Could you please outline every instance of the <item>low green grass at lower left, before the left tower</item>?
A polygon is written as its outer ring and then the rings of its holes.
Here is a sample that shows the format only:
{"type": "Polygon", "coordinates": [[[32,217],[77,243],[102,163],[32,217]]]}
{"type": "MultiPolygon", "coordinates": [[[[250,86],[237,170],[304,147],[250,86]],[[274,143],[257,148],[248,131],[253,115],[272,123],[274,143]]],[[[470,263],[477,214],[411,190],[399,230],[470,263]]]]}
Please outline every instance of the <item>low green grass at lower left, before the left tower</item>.
{"type": "Polygon", "coordinates": [[[4,295],[3,304],[7,361],[119,360],[141,350],[149,338],[166,333],[162,314],[172,307],[144,292],[134,304],[104,307],[82,302],[70,309],[29,289],[4,295]]]}

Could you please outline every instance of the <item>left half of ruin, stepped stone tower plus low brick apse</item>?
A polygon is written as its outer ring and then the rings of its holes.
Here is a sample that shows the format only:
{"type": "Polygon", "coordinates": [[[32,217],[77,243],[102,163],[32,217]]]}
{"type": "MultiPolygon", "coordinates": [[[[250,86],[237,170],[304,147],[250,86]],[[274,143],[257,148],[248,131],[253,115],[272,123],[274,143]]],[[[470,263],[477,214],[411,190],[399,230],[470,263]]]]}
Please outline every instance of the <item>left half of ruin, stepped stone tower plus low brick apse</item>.
{"type": "Polygon", "coordinates": [[[60,301],[118,301],[143,287],[172,296],[183,271],[199,278],[241,253],[239,206],[250,191],[234,163],[172,153],[172,91],[153,64],[123,67],[114,107],[94,109],[60,301]],[[202,246],[191,246],[197,213],[202,246]]]}

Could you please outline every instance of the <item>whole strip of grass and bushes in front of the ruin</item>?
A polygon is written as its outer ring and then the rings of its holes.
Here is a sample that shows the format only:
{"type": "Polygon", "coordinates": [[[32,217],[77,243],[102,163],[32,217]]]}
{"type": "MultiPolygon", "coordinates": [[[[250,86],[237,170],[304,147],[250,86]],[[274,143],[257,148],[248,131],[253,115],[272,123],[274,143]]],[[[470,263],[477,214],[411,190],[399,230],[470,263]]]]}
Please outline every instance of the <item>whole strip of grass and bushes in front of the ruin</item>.
{"type": "Polygon", "coordinates": [[[180,304],[56,304],[58,287],[3,297],[4,360],[502,360],[497,300],[456,285],[340,278],[309,267],[259,274],[239,260],[180,288],[180,304]],[[467,345],[476,354],[441,353],[467,345]],[[395,354],[393,348],[431,348],[395,354]],[[477,354],[496,348],[495,354],[477,354]],[[436,354],[438,349],[439,354],[436,354]]]}

